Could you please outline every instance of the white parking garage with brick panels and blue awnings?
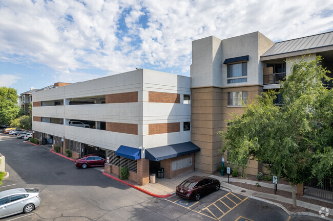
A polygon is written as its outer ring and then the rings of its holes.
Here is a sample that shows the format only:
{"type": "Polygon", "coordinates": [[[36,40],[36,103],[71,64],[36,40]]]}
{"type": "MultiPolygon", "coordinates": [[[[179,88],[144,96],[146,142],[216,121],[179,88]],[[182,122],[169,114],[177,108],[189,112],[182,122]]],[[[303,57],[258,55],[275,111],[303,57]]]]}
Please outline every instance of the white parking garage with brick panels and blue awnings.
{"type": "Polygon", "coordinates": [[[71,150],[98,153],[106,171],[118,165],[130,179],[149,183],[164,168],[171,178],[192,171],[191,78],[139,69],[33,94],[33,136],[71,150]],[[118,158],[120,157],[120,158],[118,158]]]}

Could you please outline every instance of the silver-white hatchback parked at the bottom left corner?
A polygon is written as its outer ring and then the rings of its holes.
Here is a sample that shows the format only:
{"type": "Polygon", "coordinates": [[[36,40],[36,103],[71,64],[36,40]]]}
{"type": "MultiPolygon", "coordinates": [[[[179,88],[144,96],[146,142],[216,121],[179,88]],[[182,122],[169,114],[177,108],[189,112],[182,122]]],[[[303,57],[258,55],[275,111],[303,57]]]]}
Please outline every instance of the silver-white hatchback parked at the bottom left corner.
{"type": "Polygon", "coordinates": [[[39,190],[17,188],[0,192],[0,218],[17,213],[29,213],[40,204],[39,190]]]}

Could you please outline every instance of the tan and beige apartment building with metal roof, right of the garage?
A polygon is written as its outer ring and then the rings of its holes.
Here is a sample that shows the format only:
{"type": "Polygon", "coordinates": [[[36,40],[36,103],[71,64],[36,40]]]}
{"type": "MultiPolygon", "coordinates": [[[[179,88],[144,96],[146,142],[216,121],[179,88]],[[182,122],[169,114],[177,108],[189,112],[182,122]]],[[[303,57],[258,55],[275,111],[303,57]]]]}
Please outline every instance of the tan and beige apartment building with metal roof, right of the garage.
{"type": "MultiPolygon", "coordinates": [[[[274,43],[260,32],[228,39],[214,36],[192,42],[191,140],[200,147],[195,170],[212,174],[222,158],[218,152],[218,131],[226,130],[230,113],[242,114],[243,104],[260,92],[279,90],[279,82],[290,73],[286,61],[302,55],[322,56],[322,66],[333,71],[333,32],[274,43]]],[[[332,77],[332,73],[329,74],[332,77]]],[[[328,83],[332,87],[332,83],[328,83]]],[[[276,99],[282,105],[282,97],[276,99]]],[[[260,162],[250,160],[247,173],[263,171],[260,162]]]]}

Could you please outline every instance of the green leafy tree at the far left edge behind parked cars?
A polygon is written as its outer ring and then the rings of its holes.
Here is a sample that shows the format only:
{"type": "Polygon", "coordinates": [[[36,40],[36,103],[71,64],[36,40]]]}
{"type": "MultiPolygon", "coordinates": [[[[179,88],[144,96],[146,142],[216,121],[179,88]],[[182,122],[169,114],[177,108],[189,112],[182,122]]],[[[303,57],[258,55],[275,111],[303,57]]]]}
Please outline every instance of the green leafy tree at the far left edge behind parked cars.
{"type": "Polygon", "coordinates": [[[0,124],[9,125],[22,113],[17,105],[17,91],[14,88],[0,87],[0,124]]]}

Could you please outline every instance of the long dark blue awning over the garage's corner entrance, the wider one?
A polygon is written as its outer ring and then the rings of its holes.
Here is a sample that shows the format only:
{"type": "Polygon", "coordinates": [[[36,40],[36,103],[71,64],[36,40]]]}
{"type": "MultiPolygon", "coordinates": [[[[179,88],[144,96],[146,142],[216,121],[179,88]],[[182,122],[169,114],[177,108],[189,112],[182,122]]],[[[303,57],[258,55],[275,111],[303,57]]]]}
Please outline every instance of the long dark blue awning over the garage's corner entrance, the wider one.
{"type": "Polygon", "coordinates": [[[145,159],[160,161],[198,151],[200,151],[199,146],[192,142],[177,143],[145,149],[145,159]]]}

